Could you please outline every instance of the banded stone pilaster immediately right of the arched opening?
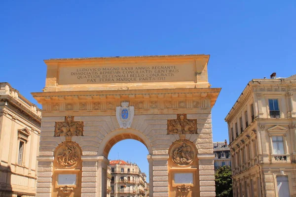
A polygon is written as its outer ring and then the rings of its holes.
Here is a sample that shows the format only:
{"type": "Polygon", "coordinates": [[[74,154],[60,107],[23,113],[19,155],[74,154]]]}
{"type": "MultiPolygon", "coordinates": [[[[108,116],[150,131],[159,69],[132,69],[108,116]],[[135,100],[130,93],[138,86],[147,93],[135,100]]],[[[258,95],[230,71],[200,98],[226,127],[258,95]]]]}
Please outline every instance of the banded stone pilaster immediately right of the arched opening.
{"type": "Polygon", "coordinates": [[[151,159],[153,161],[153,194],[151,197],[169,197],[169,155],[151,155],[151,159]]]}

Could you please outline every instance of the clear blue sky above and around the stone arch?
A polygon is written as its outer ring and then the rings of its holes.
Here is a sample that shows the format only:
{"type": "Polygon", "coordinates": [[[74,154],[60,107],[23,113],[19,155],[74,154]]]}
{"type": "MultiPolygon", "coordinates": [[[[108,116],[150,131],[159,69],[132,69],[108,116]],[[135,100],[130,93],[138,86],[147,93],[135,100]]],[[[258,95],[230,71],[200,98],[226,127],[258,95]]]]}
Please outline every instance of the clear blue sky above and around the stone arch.
{"type": "MultiPolygon", "coordinates": [[[[211,55],[209,81],[222,87],[214,141],[228,139],[224,118],[248,81],[296,74],[296,1],[0,1],[0,81],[34,103],[44,59],[173,54],[211,55]]],[[[148,172],[147,150],[137,161],[121,153],[131,142],[115,145],[110,159],[119,152],[148,172]]]]}

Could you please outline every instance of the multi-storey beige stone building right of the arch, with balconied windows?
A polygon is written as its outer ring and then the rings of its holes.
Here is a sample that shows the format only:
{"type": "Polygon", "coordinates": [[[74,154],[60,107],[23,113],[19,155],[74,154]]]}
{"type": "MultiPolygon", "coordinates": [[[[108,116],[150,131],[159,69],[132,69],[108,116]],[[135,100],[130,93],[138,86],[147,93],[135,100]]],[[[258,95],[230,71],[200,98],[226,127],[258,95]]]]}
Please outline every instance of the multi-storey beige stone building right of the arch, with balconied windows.
{"type": "Polygon", "coordinates": [[[225,118],[235,197],[296,197],[296,75],[253,79],[225,118]]]}

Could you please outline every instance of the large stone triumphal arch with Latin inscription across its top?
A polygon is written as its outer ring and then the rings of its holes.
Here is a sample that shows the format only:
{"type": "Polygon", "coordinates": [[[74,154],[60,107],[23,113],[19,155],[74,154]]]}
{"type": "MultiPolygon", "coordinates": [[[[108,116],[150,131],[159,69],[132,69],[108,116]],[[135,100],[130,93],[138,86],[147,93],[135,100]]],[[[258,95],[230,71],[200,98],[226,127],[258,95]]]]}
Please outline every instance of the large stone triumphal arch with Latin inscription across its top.
{"type": "MultiPolygon", "coordinates": [[[[149,197],[215,197],[209,55],[45,60],[37,197],[107,197],[108,154],[148,149],[149,197]]],[[[115,194],[115,196],[117,196],[115,194]]]]}

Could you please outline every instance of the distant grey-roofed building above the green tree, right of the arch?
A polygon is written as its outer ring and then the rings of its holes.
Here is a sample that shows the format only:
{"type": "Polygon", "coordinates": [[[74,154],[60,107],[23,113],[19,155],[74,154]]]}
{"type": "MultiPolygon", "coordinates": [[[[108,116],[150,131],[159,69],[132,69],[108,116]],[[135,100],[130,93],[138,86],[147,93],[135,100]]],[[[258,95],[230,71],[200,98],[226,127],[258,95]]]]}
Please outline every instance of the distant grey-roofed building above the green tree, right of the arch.
{"type": "Polygon", "coordinates": [[[229,165],[231,166],[231,155],[230,148],[228,147],[227,140],[223,142],[213,142],[214,149],[214,168],[217,170],[218,168],[229,165]]]}

